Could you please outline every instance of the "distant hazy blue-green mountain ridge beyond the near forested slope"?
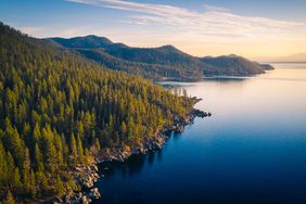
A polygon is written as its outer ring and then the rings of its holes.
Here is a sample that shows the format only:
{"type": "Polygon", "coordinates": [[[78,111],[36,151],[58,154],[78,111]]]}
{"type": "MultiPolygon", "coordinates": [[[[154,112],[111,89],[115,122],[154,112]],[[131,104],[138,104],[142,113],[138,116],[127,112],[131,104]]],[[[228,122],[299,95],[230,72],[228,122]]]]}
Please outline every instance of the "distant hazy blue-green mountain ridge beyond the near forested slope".
{"type": "Polygon", "coordinates": [[[105,37],[46,38],[48,43],[69,49],[109,68],[151,79],[196,79],[203,76],[252,76],[273,67],[238,55],[196,58],[174,46],[133,48],[105,37]]]}

